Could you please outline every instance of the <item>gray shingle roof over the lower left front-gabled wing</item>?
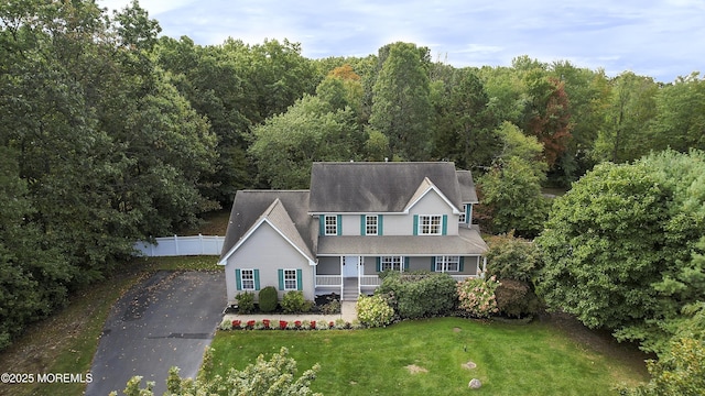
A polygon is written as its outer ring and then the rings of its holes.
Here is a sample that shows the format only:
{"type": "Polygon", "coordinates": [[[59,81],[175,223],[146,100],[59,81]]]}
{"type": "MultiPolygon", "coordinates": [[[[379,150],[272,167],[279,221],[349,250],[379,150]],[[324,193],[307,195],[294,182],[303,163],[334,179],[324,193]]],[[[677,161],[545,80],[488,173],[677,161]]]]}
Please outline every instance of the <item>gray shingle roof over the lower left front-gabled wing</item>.
{"type": "Polygon", "coordinates": [[[315,258],[317,223],[308,216],[307,207],[306,190],[239,190],[230,211],[220,258],[262,217],[268,217],[304,254],[315,258]],[[280,202],[274,205],[278,199],[280,202]]]}

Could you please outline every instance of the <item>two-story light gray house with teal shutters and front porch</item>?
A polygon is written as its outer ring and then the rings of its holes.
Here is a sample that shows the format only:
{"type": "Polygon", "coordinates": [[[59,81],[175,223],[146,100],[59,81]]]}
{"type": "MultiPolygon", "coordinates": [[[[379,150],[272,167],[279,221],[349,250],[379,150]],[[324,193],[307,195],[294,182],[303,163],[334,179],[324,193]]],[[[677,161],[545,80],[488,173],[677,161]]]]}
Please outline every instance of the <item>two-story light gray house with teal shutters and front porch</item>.
{"type": "Polygon", "coordinates": [[[219,261],[228,301],[265,286],[355,300],[383,271],[480,276],[477,202],[470,172],[447,162],[315,163],[310,190],[240,190],[219,261]]]}

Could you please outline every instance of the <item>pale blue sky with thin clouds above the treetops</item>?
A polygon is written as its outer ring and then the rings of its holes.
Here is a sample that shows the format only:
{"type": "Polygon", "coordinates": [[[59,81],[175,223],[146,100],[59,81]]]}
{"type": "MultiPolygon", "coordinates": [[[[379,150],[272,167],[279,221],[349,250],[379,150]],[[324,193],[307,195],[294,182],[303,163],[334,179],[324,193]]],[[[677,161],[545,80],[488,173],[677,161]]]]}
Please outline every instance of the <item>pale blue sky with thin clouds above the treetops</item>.
{"type": "MultiPolygon", "coordinates": [[[[120,9],[129,0],[98,0],[120,9]]],[[[301,43],[310,58],[367,56],[397,41],[456,67],[509,66],[519,55],[631,70],[670,82],[705,73],[705,0],[142,0],[162,34],[196,44],[228,36],[301,43]]]]}

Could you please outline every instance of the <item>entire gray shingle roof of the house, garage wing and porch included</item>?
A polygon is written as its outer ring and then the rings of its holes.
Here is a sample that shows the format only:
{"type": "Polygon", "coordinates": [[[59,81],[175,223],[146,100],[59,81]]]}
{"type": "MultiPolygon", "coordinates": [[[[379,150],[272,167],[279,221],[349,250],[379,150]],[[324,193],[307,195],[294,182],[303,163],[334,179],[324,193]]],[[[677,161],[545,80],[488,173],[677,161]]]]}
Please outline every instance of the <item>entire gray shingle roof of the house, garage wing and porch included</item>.
{"type": "Polygon", "coordinates": [[[220,258],[262,218],[272,222],[305,255],[474,255],[487,244],[474,228],[458,235],[318,237],[311,213],[403,212],[430,186],[456,208],[477,202],[469,170],[453,163],[314,163],[312,190],[239,190],[232,204],[220,258]],[[427,178],[427,180],[426,180],[427,178]]]}

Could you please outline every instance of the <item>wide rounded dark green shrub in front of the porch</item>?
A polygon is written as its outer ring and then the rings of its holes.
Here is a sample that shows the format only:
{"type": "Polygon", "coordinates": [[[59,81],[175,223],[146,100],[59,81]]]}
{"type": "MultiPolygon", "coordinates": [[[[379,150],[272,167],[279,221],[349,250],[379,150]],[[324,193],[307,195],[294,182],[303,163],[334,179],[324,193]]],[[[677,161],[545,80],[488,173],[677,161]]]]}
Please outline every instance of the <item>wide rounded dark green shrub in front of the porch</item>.
{"type": "Polygon", "coordinates": [[[445,316],[457,302],[456,282],[448,274],[388,274],[376,294],[388,295],[388,304],[402,319],[445,316]]]}

